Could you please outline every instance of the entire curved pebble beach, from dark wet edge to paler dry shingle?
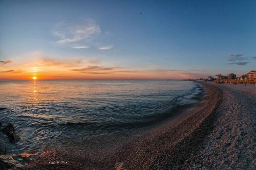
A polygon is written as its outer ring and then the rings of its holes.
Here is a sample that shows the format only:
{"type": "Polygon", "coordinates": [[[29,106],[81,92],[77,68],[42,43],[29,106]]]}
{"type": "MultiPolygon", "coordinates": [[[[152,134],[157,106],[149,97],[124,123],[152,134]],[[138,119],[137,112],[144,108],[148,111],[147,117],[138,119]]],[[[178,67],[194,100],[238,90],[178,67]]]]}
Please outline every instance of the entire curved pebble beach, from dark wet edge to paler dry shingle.
{"type": "Polygon", "coordinates": [[[110,136],[109,143],[105,138],[78,141],[65,150],[42,154],[25,168],[253,169],[254,93],[227,85],[203,85],[202,102],[183,110],[175,121],[166,120],[143,133],[110,136]]]}

